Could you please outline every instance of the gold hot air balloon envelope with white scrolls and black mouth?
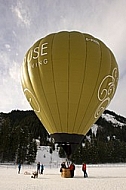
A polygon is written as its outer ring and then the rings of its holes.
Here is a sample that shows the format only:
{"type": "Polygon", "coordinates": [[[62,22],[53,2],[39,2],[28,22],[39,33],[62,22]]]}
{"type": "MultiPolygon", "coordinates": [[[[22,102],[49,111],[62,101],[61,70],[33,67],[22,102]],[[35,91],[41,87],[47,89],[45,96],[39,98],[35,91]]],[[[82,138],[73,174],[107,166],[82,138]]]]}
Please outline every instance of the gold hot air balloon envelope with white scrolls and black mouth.
{"type": "Polygon", "coordinates": [[[77,31],[39,39],[26,53],[21,72],[27,100],[67,157],[109,105],[118,77],[111,50],[77,31]]]}

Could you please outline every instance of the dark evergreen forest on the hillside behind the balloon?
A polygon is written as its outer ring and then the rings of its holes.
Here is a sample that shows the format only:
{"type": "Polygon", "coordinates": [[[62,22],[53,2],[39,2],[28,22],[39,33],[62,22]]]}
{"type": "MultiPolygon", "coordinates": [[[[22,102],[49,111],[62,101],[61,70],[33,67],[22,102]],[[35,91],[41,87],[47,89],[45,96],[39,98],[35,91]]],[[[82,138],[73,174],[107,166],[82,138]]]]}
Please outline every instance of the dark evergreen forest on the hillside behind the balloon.
{"type": "MultiPolygon", "coordinates": [[[[114,122],[100,117],[78,145],[70,158],[75,164],[126,162],[126,118],[105,110],[104,115],[114,122]]],[[[35,162],[36,139],[41,146],[50,146],[50,154],[55,149],[54,142],[33,111],[13,110],[0,113],[0,162],[35,162]]],[[[60,146],[60,145],[59,145],[60,146]]],[[[60,157],[65,157],[62,147],[60,157]]]]}

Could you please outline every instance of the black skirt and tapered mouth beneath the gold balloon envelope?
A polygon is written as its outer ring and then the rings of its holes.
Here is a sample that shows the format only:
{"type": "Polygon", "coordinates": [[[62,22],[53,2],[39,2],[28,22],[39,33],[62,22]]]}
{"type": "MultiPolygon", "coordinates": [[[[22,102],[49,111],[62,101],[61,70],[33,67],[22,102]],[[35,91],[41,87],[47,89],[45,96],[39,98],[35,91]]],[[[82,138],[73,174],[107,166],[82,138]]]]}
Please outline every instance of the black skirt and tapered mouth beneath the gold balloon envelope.
{"type": "Polygon", "coordinates": [[[62,146],[68,159],[70,159],[71,155],[75,152],[77,146],[84,138],[84,135],[68,133],[54,133],[50,136],[54,139],[55,143],[62,146]]]}

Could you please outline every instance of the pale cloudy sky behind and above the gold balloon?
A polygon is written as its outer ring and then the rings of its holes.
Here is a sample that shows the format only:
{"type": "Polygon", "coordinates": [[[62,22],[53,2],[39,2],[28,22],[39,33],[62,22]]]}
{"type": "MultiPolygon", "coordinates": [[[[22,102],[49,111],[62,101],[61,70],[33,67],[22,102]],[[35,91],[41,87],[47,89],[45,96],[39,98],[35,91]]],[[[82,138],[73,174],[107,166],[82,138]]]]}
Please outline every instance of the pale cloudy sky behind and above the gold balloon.
{"type": "Polygon", "coordinates": [[[27,50],[59,31],[102,40],[115,55],[119,82],[107,109],[126,117],[125,0],[0,0],[0,112],[31,110],[20,80],[27,50]]]}

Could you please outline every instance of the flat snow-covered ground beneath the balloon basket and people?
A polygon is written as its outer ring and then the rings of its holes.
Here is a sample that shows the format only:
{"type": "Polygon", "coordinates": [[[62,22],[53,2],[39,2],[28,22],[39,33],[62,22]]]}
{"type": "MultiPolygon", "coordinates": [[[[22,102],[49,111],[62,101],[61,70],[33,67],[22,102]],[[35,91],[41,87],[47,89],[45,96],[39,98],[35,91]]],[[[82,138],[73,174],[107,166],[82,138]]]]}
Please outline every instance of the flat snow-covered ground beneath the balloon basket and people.
{"type": "Polygon", "coordinates": [[[44,174],[33,179],[36,165],[23,165],[18,174],[15,165],[0,165],[0,190],[126,190],[126,164],[87,165],[88,178],[76,166],[74,178],[62,178],[59,167],[45,166],[44,174]]]}

